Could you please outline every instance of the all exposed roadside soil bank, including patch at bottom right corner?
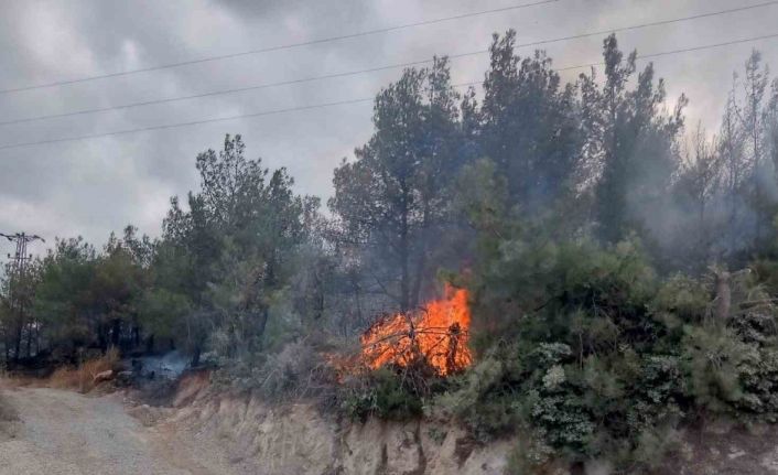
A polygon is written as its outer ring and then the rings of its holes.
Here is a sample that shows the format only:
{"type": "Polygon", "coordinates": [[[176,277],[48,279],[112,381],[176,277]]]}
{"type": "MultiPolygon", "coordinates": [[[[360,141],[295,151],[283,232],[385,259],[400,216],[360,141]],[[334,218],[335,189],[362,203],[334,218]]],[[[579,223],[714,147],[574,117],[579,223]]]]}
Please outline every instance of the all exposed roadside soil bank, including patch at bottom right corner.
{"type": "MultiPolygon", "coordinates": [[[[180,385],[171,412],[160,428],[175,432],[182,446],[215,441],[242,473],[322,475],[501,474],[515,441],[478,445],[455,424],[434,421],[366,423],[323,417],[310,404],[267,404],[259,397],[214,395],[206,375],[180,385]]],[[[153,409],[151,419],[153,419],[153,409]]],[[[588,475],[612,473],[592,461],[588,475]]],[[[676,454],[657,474],[778,474],[778,427],[746,431],[723,422],[680,433],[676,454]]],[[[545,475],[570,475],[568,466],[545,475]]]]}

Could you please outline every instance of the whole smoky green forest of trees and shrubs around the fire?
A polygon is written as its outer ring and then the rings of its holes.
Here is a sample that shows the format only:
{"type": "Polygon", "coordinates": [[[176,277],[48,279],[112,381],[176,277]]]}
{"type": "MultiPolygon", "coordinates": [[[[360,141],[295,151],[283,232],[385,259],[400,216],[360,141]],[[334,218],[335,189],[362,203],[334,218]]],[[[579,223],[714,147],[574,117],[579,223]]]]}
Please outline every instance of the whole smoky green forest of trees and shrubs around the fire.
{"type": "Polygon", "coordinates": [[[706,130],[615,35],[569,83],[515,46],[494,35],[483,94],[446,57],[381,89],[326,203],[228,134],[159,237],[129,225],[9,263],[1,365],[177,349],[268,399],[520,432],[516,473],[603,454],[638,473],[706,414],[778,420],[778,78],[757,51],[733,65],[706,130]],[[452,289],[466,364],[355,369],[380,317],[452,289]]]}

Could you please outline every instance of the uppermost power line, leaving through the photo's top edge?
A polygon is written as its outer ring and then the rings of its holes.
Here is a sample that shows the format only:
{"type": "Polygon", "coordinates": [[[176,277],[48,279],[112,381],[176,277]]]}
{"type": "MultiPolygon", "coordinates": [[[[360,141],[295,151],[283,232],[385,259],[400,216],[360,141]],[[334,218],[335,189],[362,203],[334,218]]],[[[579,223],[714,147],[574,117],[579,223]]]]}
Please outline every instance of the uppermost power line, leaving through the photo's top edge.
{"type": "Polygon", "coordinates": [[[511,10],[520,10],[520,9],[526,9],[529,7],[538,7],[538,6],[543,6],[543,4],[548,4],[548,3],[555,3],[558,1],[561,1],[561,0],[539,0],[539,1],[531,2],[531,3],[519,3],[519,4],[514,4],[514,6],[503,7],[503,8],[497,8],[497,9],[490,9],[490,10],[479,10],[479,11],[475,11],[475,12],[471,12],[471,13],[461,13],[461,14],[455,14],[455,15],[451,15],[451,17],[441,17],[441,18],[431,19],[431,20],[423,20],[423,21],[418,21],[418,22],[413,22],[413,23],[404,23],[404,24],[399,24],[399,25],[395,25],[395,26],[387,26],[387,28],[381,28],[381,29],[376,29],[376,30],[367,30],[367,31],[361,31],[361,32],[357,32],[357,33],[349,33],[349,34],[343,34],[343,35],[337,35],[337,36],[327,36],[327,37],[322,37],[318,40],[302,41],[302,42],[298,42],[298,43],[288,43],[288,44],[282,44],[282,45],[278,45],[278,46],[268,46],[268,47],[261,47],[261,48],[257,48],[257,50],[248,50],[248,51],[242,51],[242,52],[238,52],[238,53],[221,54],[221,55],[216,55],[216,56],[206,56],[206,57],[201,57],[198,60],[190,60],[190,61],[181,61],[177,63],[160,64],[156,66],[141,67],[138,69],[127,69],[127,71],[120,71],[117,73],[101,74],[101,75],[96,75],[96,76],[85,76],[85,77],[79,77],[76,79],[57,80],[57,82],[47,83],[47,84],[37,84],[37,85],[32,85],[32,86],[21,86],[21,87],[8,88],[8,89],[0,89],[0,95],[11,94],[11,93],[21,93],[23,90],[42,89],[42,88],[46,88],[46,87],[65,86],[65,85],[76,84],[76,83],[86,83],[86,82],[90,82],[90,80],[105,79],[105,78],[118,77],[118,76],[127,76],[127,75],[138,74],[138,73],[149,73],[152,71],[169,69],[172,67],[188,66],[188,65],[193,65],[193,64],[210,63],[214,61],[228,60],[228,58],[248,56],[248,55],[253,55],[253,54],[270,53],[270,52],[274,52],[274,51],[292,50],[295,47],[311,46],[314,44],[329,43],[329,42],[349,40],[349,39],[361,37],[361,36],[371,36],[371,35],[377,35],[377,34],[389,33],[389,32],[398,31],[398,30],[407,30],[407,29],[411,29],[411,28],[415,28],[415,26],[424,26],[424,25],[444,23],[444,22],[454,21],[454,20],[462,20],[465,18],[483,17],[486,14],[500,13],[500,12],[506,12],[506,11],[511,11],[511,10]]]}

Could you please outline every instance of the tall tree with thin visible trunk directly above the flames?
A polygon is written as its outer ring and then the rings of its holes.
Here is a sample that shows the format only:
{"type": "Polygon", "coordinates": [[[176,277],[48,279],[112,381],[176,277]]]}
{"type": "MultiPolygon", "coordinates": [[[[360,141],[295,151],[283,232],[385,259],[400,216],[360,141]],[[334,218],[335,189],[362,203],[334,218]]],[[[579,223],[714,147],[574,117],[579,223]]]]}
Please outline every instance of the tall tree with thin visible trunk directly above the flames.
{"type": "Polygon", "coordinates": [[[456,101],[445,58],[407,69],[376,97],[376,130],[356,161],[335,170],[329,206],[350,244],[369,251],[363,259],[382,262],[385,272],[372,278],[401,311],[419,302],[461,156],[456,101]]]}

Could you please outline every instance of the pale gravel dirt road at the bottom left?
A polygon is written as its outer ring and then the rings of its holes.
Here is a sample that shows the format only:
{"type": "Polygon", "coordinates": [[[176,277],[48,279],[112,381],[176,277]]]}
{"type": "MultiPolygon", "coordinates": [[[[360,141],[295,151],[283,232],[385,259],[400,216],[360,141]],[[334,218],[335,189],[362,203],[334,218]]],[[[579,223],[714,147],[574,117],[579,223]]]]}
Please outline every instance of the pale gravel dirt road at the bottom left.
{"type": "Polygon", "coordinates": [[[0,475],[236,473],[214,447],[181,446],[170,428],[141,424],[119,395],[0,391],[19,415],[12,436],[0,436],[0,475]]]}

